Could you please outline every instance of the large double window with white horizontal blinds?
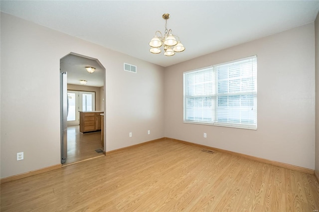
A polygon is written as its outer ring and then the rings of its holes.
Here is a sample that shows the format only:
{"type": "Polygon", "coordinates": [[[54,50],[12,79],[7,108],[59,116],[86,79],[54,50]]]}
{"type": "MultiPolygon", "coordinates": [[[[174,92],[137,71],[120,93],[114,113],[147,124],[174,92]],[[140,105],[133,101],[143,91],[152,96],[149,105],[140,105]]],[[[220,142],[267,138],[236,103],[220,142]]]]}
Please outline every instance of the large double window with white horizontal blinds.
{"type": "Polygon", "coordinates": [[[257,56],[185,72],[184,122],[257,129],[257,56]]]}

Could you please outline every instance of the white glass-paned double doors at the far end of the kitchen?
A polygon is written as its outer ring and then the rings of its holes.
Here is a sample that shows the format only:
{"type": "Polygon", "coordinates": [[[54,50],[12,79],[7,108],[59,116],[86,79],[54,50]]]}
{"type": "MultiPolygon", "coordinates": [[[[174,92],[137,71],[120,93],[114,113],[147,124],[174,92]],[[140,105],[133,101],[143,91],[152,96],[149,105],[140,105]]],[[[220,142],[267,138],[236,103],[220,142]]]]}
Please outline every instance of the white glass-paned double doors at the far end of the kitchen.
{"type": "Polygon", "coordinates": [[[68,126],[80,124],[79,111],[95,111],[95,92],[68,90],[68,126]]]}

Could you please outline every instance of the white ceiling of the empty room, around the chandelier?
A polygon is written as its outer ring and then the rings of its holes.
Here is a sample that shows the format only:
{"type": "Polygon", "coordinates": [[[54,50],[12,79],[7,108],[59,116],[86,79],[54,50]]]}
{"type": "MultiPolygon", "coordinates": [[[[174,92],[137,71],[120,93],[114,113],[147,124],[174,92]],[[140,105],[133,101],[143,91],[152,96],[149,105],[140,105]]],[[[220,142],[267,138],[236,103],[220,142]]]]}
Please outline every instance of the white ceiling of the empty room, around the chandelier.
{"type": "Polygon", "coordinates": [[[319,0],[1,0],[0,10],[163,67],[313,22],[319,0]],[[149,52],[167,28],[186,50],[149,52]]]}

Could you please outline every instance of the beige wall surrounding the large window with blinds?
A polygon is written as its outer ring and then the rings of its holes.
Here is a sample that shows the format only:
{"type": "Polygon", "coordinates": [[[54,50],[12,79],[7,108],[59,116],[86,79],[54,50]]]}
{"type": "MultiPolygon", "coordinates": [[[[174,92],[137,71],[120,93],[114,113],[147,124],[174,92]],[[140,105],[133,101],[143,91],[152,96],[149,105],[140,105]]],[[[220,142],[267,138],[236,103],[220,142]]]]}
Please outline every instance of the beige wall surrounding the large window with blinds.
{"type": "Polygon", "coordinates": [[[310,23],[166,68],[165,136],[314,169],[314,29],[310,23]],[[183,72],[251,55],[258,57],[258,129],[183,123],[183,72]]]}

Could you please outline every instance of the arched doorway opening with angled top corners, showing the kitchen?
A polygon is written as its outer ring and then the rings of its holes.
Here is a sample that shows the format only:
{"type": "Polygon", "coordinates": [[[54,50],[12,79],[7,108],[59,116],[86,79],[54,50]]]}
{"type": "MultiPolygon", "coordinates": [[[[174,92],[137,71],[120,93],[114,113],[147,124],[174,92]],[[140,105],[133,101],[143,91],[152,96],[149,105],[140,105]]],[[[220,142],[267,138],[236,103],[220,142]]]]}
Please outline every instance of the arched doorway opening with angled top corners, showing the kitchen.
{"type": "Polygon", "coordinates": [[[60,59],[62,164],[103,156],[104,88],[105,68],[98,59],[72,52],[60,59]],[[95,71],[89,73],[86,67],[95,71]]]}

